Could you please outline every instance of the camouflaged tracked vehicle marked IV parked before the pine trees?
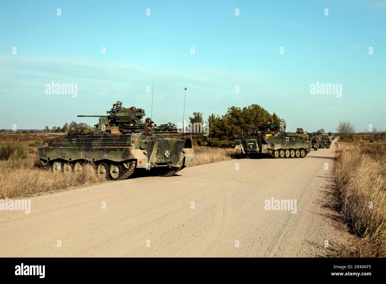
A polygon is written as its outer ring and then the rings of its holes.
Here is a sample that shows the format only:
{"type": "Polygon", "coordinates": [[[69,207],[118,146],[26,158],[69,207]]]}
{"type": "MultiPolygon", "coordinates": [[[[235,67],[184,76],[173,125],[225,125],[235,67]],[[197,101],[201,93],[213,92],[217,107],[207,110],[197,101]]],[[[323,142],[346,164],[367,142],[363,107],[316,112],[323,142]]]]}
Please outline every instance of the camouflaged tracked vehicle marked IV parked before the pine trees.
{"type": "Polygon", "coordinates": [[[310,137],[298,128],[295,132],[279,131],[277,124],[265,124],[258,131],[237,138],[235,149],[247,155],[274,158],[304,158],[312,148],[310,137]]]}

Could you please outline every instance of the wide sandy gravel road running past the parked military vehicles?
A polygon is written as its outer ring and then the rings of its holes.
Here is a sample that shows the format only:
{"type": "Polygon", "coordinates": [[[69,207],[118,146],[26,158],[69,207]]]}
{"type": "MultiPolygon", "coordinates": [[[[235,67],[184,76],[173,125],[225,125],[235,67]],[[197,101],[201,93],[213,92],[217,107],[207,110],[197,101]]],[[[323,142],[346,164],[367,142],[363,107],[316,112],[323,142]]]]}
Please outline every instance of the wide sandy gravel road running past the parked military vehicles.
{"type": "Polygon", "coordinates": [[[304,159],[231,160],[185,168],[173,177],[35,196],[29,214],[0,211],[0,255],[330,255],[342,237],[329,209],[335,147],[312,150],[304,159]],[[296,199],[296,213],[266,210],[272,197],[296,199]]]}

